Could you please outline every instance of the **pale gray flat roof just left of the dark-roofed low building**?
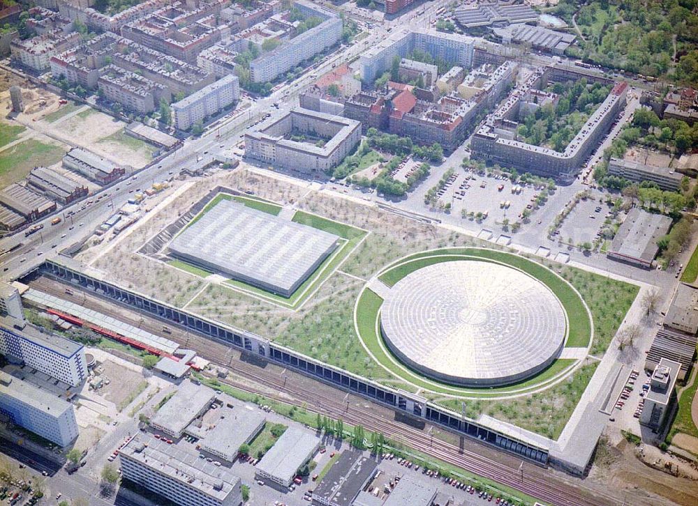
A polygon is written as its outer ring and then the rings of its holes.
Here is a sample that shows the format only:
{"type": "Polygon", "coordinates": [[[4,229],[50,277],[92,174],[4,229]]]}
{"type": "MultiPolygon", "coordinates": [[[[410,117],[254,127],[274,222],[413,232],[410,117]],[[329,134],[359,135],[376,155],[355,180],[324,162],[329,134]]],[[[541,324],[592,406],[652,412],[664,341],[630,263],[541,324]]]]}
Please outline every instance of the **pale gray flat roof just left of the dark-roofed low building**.
{"type": "Polygon", "coordinates": [[[288,482],[313,456],[320,439],[307,429],[288,427],[257,464],[257,469],[288,482]]]}

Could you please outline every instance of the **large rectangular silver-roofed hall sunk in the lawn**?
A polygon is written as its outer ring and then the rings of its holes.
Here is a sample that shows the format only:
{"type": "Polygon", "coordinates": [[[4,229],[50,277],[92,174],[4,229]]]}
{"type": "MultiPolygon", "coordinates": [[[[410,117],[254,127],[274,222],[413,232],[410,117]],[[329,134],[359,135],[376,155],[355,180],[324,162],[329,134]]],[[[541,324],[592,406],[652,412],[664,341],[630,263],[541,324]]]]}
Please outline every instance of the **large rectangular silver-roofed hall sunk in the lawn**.
{"type": "Polygon", "coordinates": [[[221,200],[170,244],[174,256],[290,295],[339,237],[221,200]]]}

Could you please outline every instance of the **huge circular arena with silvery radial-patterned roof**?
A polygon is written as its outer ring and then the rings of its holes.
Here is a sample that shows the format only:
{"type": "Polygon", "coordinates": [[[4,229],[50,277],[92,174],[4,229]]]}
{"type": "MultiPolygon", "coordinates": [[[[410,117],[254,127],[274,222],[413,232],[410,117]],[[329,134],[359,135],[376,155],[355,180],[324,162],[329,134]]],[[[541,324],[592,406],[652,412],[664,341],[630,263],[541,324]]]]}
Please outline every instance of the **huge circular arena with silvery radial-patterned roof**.
{"type": "Polygon", "coordinates": [[[549,287],[503,263],[441,261],[396,282],[380,309],[399,360],[454,385],[496,387],[551,365],[565,346],[565,309],[549,287]]]}

